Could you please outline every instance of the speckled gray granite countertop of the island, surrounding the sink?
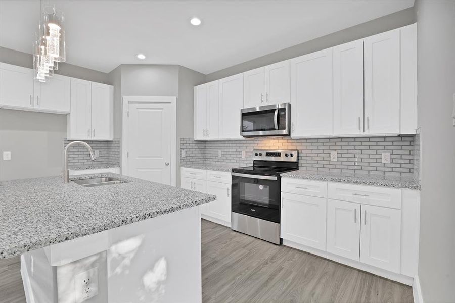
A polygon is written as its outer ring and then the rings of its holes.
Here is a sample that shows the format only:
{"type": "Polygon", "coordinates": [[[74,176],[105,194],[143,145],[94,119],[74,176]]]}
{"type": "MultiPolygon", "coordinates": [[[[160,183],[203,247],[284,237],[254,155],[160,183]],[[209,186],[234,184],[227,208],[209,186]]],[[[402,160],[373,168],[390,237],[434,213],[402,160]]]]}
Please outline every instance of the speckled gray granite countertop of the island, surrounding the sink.
{"type": "Polygon", "coordinates": [[[216,196],[113,173],[128,183],[83,187],[61,177],[0,182],[0,259],[201,205],[216,196]]]}

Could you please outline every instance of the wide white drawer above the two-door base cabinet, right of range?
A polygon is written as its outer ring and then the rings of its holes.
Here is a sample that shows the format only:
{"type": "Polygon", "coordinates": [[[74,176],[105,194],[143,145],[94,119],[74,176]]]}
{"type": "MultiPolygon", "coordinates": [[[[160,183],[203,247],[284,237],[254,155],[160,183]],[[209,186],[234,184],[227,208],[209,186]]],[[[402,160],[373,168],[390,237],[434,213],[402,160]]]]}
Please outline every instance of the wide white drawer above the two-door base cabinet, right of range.
{"type": "Polygon", "coordinates": [[[401,189],[329,182],[329,199],[401,209],[401,189]]]}

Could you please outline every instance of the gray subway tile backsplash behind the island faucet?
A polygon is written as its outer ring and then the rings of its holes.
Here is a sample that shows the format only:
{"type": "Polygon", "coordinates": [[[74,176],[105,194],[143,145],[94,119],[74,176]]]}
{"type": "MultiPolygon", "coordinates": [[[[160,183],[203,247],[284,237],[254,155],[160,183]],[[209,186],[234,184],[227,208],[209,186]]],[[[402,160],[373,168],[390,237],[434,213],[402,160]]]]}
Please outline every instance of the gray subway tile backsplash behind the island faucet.
{"type": "MultiPolygon", "coordinates": [[[[63,141],[65,148],[69,140],[63,141]]],[[[112,141],[84,141],[92,149],[99,150],[100,156],[95,161],[90,160],[87,148],[82,145],[71,146],[68,150],[68,165],[71,166],[91,166],[91,165],[120,165],[120,139],[112,141]]]]}

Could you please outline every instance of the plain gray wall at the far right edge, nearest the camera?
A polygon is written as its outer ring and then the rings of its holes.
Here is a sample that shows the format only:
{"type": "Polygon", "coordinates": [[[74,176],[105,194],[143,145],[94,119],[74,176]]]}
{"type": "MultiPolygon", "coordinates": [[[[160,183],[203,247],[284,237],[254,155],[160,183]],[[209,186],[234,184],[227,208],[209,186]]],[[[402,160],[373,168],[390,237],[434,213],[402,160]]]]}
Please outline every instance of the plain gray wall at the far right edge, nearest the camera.
{"type": "Polygon", "coordinates": [[[425,302],[455,302],[455,2],[417,1],[421,127],[419,279],[425,302]]]}

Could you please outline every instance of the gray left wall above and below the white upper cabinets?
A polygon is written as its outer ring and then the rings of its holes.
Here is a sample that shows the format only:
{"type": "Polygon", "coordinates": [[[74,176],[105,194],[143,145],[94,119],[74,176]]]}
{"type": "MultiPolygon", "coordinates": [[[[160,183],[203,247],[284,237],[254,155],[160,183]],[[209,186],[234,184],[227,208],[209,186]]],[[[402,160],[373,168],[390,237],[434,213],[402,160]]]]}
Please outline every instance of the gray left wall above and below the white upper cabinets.
{"type": "MultiPolygon", "coordinates": [[[[33,67],[30,54],[0,47],[0,62],[33,67]]],[[[108,74],[61,64],[59,74],[101,83],[108,74]]],[[[0,180],[55,176],[63,168],[66,115],[0,109],[0,180]],[[11,151],[11,160],[3,160],[11,151]]]]}

